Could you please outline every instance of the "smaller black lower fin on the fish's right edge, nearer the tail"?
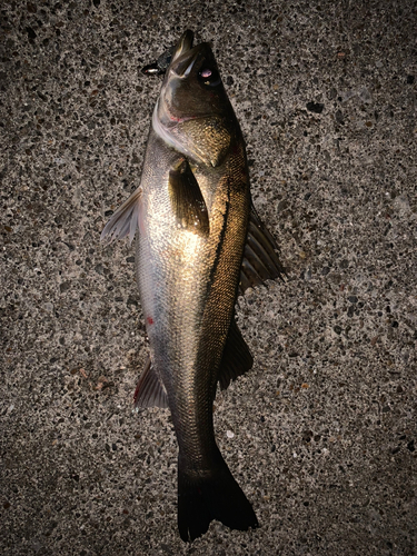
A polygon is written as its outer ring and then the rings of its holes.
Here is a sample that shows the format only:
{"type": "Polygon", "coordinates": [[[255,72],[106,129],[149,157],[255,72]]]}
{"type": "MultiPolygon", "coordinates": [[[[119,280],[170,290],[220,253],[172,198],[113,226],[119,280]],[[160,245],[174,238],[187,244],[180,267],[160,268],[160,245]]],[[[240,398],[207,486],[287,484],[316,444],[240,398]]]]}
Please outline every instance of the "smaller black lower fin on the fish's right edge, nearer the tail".
{"type": "Polygon", "coordinates": [[[254,358],[234,316],[218,374],[220,388],[225,390],[231,380],[251,369],[252,365],[254,358]]]}

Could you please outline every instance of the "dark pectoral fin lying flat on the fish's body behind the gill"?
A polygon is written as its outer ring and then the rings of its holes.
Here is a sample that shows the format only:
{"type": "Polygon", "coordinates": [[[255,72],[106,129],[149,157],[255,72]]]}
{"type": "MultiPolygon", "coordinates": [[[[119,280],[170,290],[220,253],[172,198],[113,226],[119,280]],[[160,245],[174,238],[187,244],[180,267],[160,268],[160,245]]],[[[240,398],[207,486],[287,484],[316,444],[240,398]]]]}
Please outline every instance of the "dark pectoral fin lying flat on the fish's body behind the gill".
{"type": "Polygon", "coordinates": [[[207,236],[209,218],[206,202],[186,159],[169,172],[169,193],[178,225],[183,229],[207,236]]]}

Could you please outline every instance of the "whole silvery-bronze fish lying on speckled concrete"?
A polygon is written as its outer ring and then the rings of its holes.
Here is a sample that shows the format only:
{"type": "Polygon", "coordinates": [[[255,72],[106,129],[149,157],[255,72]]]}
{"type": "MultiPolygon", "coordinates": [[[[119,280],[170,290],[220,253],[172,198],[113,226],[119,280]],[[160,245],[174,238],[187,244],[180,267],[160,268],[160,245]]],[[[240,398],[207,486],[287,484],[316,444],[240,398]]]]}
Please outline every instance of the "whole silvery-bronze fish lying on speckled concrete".
{"type": "Polygon", "coordinates": [[[135,406],[171,413],[178,529],[192,542],[214,519],[231,529],[259,526],[217,446],[214,400],[218,385],[227,388],[254,364],[236,324],[239,292],[285,269],[251,201],[245,141],[210,43],[193,46],[187,30],[168,53],[140,185],[101,240],[137,235],[150,355],[135,406]]]}

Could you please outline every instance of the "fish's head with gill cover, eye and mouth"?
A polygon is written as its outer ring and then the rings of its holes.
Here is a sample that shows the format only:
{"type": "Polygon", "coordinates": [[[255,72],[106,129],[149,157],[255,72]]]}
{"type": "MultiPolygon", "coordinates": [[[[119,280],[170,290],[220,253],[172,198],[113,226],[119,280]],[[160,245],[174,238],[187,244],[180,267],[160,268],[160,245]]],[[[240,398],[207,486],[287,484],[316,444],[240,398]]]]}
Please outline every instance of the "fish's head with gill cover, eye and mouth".
{"type": "Polygon", "coordinates": [[[178,41],[156,105],[152,127],[161,139],[196,163],[217,167],[240,133],[208,42],[178,41]]]}

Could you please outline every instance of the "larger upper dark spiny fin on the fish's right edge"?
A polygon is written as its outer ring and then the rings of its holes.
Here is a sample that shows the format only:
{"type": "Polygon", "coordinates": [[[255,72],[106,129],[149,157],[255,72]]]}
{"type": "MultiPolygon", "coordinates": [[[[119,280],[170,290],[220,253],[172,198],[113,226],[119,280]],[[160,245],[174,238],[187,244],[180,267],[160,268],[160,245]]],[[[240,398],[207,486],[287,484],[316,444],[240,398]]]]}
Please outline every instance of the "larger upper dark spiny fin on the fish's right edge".
{"type": "Polygon", "coordinates": [[[284,280],[286,271],[277,252],[278,246],[258,217],[254,205],[250,208],[248,237],[240,269],[240,292],[249,287],[265,284],[265,280],[284,280]]]}

